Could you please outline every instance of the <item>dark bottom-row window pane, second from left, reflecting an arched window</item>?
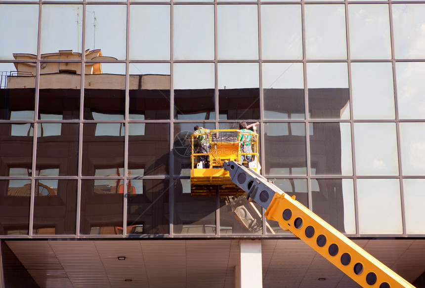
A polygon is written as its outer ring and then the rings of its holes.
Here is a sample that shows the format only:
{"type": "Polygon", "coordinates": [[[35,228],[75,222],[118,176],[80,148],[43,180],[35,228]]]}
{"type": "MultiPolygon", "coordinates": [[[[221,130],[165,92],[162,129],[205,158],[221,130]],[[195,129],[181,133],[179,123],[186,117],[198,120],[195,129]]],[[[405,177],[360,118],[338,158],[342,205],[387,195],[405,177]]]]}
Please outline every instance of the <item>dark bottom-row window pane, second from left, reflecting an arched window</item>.
{"type": "Polygon", "coordinates": [[[36,180],[35,235],[74,235],[77,180],[36,180]]]}

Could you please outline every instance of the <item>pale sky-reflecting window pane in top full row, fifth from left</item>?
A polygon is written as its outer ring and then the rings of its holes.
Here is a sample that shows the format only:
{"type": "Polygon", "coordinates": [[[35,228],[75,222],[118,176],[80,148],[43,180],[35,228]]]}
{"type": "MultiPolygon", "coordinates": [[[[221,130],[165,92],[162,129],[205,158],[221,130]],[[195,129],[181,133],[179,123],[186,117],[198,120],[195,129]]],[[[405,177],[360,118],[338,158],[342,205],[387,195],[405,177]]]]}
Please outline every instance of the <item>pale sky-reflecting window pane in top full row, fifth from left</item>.
{"type": "Polygon", "coordinates": [[[174,59],[214,59],[214,6],[174,5],[174,59]]]}

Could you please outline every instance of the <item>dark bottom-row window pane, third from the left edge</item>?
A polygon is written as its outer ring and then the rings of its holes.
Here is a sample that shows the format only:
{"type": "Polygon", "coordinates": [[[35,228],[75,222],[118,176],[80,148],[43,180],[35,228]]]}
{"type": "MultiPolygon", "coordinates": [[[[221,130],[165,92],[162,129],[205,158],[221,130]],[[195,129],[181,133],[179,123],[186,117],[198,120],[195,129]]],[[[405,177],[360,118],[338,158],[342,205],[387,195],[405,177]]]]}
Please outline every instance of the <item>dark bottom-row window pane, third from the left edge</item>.
{"type": "Polygon", "coordinates": [[[80,233],[123,234],[123,180],[82,180],[80,233]]]}

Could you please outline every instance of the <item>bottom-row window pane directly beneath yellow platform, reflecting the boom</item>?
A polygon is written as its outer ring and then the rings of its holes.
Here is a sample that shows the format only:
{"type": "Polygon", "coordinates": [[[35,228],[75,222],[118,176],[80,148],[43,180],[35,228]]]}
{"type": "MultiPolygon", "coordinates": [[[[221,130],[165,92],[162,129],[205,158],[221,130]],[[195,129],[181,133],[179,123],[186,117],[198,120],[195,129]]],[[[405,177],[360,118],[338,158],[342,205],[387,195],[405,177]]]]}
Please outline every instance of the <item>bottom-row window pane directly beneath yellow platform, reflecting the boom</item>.
{"type": "Polygon", "coordinates": [[[220,234],[261,234],[262,208],[246,196],[220,198],[220,234]]]}

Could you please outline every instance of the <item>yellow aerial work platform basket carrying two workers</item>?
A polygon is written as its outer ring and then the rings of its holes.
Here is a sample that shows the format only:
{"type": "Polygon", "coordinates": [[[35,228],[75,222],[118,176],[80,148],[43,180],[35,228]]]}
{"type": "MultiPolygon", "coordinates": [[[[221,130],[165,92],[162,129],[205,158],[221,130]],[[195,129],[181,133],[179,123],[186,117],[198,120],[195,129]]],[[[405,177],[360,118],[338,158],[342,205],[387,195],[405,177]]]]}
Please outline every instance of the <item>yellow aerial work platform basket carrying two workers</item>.
{"type": "Polygon", "coordinates": [[[229,172],[223,168],[224,161],[235,161],[260,172],[258,158],[258,134],[253,136],[252,153],[243,153],[239,139],[248,135],[237,129],[209,130],[208,133],[193,133],[190,138],[192,146],[190,186],[194,196],[214,196],[218,191],[220,196],[240,196],[245,192],[230,180],[229,172]],[[208,153],[200,153],[198,136],[207,137],[208,153]],[[200,163],[200,156],[210,158],[210,167],[205,168],[200,163]],[[246,157],[251,157],[248,162],[246,157]],[[241,159],[244,158],[244,159],[241,159]]]}

